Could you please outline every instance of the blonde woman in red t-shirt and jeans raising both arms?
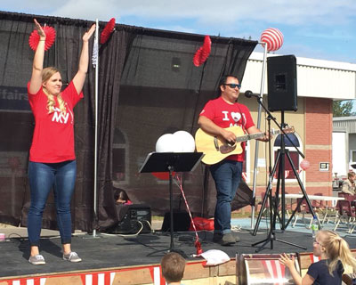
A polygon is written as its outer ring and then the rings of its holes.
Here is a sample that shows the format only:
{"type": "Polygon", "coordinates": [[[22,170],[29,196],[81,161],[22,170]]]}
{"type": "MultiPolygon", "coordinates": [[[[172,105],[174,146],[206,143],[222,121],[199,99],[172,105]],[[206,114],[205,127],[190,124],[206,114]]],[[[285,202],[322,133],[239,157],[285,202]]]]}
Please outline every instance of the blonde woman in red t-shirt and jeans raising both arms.
{"type": "Polygon", "coordinates": [[[83,98],[89,64],[88,41],[95,24],[84,34],[77,74],[61,91],[61,73],[58,69],[44,69],[44,29],[35,21],[40,36],[33,61],[32,76],[28,82],[28,101],[35,117],[35,130],[29,151],[28,180],[31,205],[28,210],[28,240],[31,253],[28,262],[44,265],[39,254],[42,216],[48,194],[53,188],[57,223],[61,233],[63,259],[79,262],[82,259],[71,251],[70,200],[77,175],[74,151],[73,108],[83,98]]]}

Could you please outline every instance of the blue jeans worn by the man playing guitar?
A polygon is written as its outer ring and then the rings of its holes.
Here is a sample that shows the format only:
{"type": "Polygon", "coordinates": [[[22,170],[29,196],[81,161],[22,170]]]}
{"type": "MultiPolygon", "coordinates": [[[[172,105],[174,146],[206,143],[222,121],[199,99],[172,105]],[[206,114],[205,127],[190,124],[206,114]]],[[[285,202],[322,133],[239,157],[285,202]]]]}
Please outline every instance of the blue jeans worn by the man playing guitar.
{"type": "Polygon", "coordinates": [[[210,167],[216,187],[214,232],[231,232],[231,201],[235,198],[242,175],[242,162],[223,160],[210,167]]]}

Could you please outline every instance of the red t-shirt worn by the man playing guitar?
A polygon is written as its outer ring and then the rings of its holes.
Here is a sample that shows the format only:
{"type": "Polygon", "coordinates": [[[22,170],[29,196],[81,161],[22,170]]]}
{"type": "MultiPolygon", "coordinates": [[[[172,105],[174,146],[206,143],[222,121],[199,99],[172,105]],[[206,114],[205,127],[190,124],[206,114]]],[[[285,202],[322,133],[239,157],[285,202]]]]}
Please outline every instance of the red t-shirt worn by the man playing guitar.
{"type": "MultiPolygon", "coordinates": [[[[241,126],[243,129],[248,129],[251,126],[255,126],[250,111],[245,105],[238,102],[229,104],[222,97],[207,102],[204,109],[200,112],[200,116],[210,118],[215,125],[223,128],[241,126]]],[[[244,142],[242,143],[242,147],[245,150],[244,142]]],[[[244,161],[245,151],[237,155],[231,155],[226,159],[244,161]]]]}

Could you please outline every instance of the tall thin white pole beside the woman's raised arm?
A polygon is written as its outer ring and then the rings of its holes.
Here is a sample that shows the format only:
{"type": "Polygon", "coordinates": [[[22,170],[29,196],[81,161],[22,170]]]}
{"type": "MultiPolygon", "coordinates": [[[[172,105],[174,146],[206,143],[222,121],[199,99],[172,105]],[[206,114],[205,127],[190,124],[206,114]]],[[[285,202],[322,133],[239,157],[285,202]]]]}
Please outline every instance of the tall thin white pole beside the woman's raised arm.
{"type": "MultiPolygon", "coordinates": [[[[96,28],[95,28],[95,41],[99,41],[99,20],[96,19],[96,28]]],[[[94,44],[95,45],[95,44],[94,44]]],[[[98,173],[98,82],[99,82],[99,46],[98,46],[98,53],[96,58],[96,66],[95,66],[95,142],[94,142],[94,207],[93,207],[93,217],[94,219],[97,218],[97,173],[98,173]]],[[[96,237],[96,229],[93,229],[93,237],[96,237]]]]}

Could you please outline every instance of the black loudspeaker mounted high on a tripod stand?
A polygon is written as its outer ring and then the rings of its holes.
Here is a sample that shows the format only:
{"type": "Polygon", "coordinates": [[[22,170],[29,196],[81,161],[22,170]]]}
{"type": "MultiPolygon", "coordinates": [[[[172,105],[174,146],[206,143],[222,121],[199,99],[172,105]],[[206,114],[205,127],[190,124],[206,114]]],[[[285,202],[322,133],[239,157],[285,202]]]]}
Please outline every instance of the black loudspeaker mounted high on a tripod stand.
{"type": "Polygon", "coordinates": [[[298,110],[294,55],[267,58],[268,110],[298,110]]]}

